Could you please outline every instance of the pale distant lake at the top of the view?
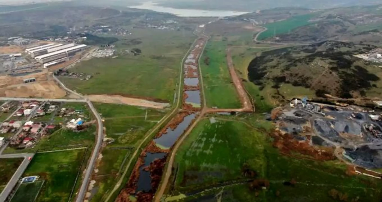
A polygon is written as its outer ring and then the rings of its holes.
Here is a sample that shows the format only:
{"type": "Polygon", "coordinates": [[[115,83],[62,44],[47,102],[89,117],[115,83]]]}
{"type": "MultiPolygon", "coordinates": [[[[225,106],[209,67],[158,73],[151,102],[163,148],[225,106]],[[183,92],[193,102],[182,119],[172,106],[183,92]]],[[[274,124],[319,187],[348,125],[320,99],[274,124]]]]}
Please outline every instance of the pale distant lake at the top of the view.
{"type": "Polygon", "coordinates": [[[162,13],[171,13],[180,17],[225,17],[225,16],[235,16],[243,15],[249,12],[239,12],[239,11],[219,11],[219,10],[196,10],[196,9],[178,9],[169,8],[157,5],[153,2],[144,2],[139,6],[128,6],[128,8],[138,8],[153,10],[162,13]]]}

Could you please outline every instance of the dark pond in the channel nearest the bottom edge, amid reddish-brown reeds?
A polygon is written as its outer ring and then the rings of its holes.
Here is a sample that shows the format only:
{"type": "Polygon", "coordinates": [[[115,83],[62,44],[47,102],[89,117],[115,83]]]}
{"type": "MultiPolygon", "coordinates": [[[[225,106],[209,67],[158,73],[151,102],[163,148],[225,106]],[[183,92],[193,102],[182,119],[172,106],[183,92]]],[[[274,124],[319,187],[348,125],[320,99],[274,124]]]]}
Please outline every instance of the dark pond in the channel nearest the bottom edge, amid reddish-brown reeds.
{"type": "Polygon", "coordinates": [[[137,190],[149,192],[151,190],[151,178],[150,171],[143,170],[144,167],[149,166],[155,159],[162,159],[166,156],[166,153],[147,153],[144,158],[144,165],[139,168],[139,178],[137,183],[137,190]]]}

